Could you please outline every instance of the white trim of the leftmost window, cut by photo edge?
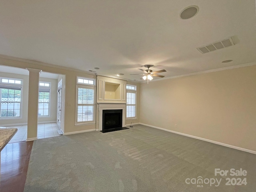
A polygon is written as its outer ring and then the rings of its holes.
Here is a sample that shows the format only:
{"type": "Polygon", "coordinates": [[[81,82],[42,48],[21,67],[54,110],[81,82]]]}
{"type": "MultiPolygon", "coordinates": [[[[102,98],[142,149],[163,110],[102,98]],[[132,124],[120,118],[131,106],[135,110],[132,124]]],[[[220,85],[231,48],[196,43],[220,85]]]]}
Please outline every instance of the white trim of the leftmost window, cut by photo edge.
{"type": "MultiPolygon", "coordinates": [[[[10,78],[10,77],[3,77],[1,76],[0,77],[0,84],[2,85],[5,85],[5,86],[9,86],[10,88],[11,87],[21,87],[21,90],[20,90],[20,116],[17,116],[17,117],[1,117],[0,116],[0,119],[1,120],[10,120],[10,119],[22,119],[22,103],[23,103],[23,79],[20,79],[20,78],[10,78]],[[12,80],[20,80],[21,81],[21,84],[15,84],[15,83],[2,83],[2,78],[4,79],[12,79],[12,80]]],[[[0,99],[2,99],[2,90],[0,89],[0,99]]],[[[0,101],[0,110],[1,110],[1,101],[0,101]]]]}

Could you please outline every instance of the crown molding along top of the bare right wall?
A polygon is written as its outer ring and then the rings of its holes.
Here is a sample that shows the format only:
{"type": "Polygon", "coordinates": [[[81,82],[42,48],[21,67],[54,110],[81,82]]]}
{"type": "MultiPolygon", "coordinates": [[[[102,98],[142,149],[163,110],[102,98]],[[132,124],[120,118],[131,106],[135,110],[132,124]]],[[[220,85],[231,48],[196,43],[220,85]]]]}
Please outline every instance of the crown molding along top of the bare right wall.
{"type": "MultiPolygon", "coordinates": [[[[192,75],[198,75],[198,74],[204,74],[204,73],[211,73],[211,72],[217,72],[217,71],[223,71],[223,70],[229,70],[229,69],[235,69],[235,68],[241,68],[241,67],[248,67],[248,66],[253,66],[253,65],[256,65],[256,62],[250,62],[250,63],[246,63],[246,64],[240,64],[240,65],[234,65],[234,66],[229,66],[229,67],[223,67],[223,68],[211,69],[211,70],[206,70],[206,71],[182,74],[182,75],[177,75],[177,76],[172,76],[172,77],[166,77],[166,78],[151,80],[150,82],[162,81],[162,80],[166,80],[166,79],[174,79],[174,78],[186,77],[186,76],[192,76],[192,75]]],[[[140,82],[140,83],[146,83],[146,82],[147,81],[140,82]]]]}

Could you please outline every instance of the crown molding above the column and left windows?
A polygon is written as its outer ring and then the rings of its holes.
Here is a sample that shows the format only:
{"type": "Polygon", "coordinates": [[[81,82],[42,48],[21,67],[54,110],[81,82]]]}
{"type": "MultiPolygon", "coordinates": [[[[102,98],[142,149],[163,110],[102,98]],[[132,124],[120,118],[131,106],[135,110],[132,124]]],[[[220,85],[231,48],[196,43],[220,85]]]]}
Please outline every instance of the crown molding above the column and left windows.
{"type": "Polygon", "coordinates": [[[74,69],[74,68],[63,67],[63,66],[48,64],[48,63],[42,63],[42,62],[38,62],[38,61],[31,61],[31,60],[21,59],[21,58],[17,58],[17,57],[12,57],[12,56],[1,55],[1,54],[0,54],[0,58],[14,60],[14,61],[20,61],[20,62],[26,62],[26,63],[36,64],[36,65],[41,65],[41,66],[53,67],[53,68],[58,68],[58,69],[64,69],[64,70],[69,70],[69,71],[74,71],[74,72],[83,72],[83,73],[90,74],[90,75],[96,75],[94,72],[90,72],[90,71],[78,70],[78,69],[74,69]]]}

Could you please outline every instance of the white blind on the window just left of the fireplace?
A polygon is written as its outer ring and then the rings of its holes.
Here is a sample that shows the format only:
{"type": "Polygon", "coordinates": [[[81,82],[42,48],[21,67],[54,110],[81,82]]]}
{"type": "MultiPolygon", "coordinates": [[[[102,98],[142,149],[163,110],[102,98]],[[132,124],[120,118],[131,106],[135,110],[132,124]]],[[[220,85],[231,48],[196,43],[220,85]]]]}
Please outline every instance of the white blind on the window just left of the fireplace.
{"type": "Polygon", "coordinates": [[[76,124],[94,122],[94,87],[77,85],[76,124]]]}

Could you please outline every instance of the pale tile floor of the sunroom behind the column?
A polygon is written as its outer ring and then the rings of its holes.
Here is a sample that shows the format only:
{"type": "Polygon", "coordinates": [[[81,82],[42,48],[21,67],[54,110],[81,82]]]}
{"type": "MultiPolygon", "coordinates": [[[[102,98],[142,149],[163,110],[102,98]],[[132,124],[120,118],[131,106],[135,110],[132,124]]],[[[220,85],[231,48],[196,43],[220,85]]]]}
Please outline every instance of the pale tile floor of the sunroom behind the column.
{"type": "MultiPolygon", "coordinates": [[[[28,125],[16,125],[8,127],[18,128],[16,134],[8,143],[26,141],[28,125]]],[[[42,139],[60,136],[58,130],[60,130],[60,128],[58,127],[57,123],[40,123],[37,126],[37,138],[42,139]]]]}

